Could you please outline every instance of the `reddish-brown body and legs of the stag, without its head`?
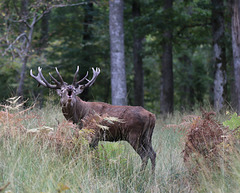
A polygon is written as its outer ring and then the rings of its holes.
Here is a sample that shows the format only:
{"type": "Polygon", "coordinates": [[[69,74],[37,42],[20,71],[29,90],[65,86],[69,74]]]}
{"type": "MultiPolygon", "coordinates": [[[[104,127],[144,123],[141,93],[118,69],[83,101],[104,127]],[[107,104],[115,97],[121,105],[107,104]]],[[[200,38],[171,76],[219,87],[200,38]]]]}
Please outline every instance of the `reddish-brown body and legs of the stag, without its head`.
{"type": "MultiPolygon", "coordinates": [[[[67,120],[81,124],[81,120],[92,113],[99,115],[108,114],[117,117],[122,122],[110,124],[105,136],[99,140],[105,141],[127,141],[142,159],[142,169],[147,165],[150,158],[152,169],[155,170],[156,153],[152,148],[152,133],[155,127],[155,115],[142,107],[114,106],[102,102],[85,102],[76,97],[76,103],[62,107],[63,114],[67,120]]],[[[98,141],[90,144],[92,147],[98,145],[98,141]]]]}

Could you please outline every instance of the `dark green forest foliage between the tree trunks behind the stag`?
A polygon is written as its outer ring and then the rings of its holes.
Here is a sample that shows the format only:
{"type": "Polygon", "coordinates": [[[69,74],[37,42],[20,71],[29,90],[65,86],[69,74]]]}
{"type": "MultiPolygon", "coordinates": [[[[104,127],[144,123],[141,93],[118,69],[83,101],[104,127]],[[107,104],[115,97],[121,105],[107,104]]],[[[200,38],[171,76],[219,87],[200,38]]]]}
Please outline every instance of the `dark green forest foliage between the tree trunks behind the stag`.
{"type": "MultiPolygon", "coordinates": [[[[37,10],[41,14],[45,6],[52,4],[70,4],[76,1],[30,1],[29,15],[37,10]]],[[[79,1],[78,1],[79,2],[79,1]]],[[[21,10],[21,1],[2,1],[0,14],[0,51],[8,47],[7,40],[12,42],[20,33],[20,19],[17,10],[21,10]],[[17,8],[17,9],[16,9],[17,8]],[[10,28],[11,27],[11,28],[10,28]],[[9,29],[11,29],[9,31],[9,29]]],[[[173,31],[173,71],[174,103],[176,109],[192,109],[211,101],[213,84],[212,67],[212,26],[211,1],[174,1],[173,10],[163,12],[162,1],[140,1],[141,16],[132,16],[132,1],[126,1],[124,7],[125,62],[129,104],[134,104],[134,70],[133,70],[133,34],[143,38],[144,102],[145,107],[159,112],[161,57],[164,30],[173,31]],[[172,19],[170,19],[172,18],[172,19]],[[139,28],[136,30],[134,24],[139,28]]],[[[226,26],[231,22],[227,5],[225,8],[226,26]]],[[[82,99],[111,102],[110,85],[110,47],[108,1],[97,1],[92,7],[62,7],[51,10],[48,20],[48,41],[41,47],[42,20],[34,30],[32,47],[25,78],[25,98],[35,100],[39,93],[41,104],[49,95],[48,89],[37,88],[36,82],[29,76],[29,70],[37,73],[37,67],[43,68],[43,74],[50,80],[48,72],[56,75],[58,67],[66,82],[71,83],[76,66],[80,66],[80,75],[91,67],[101,68],[96,83],[82,95],[82,99]]],[[[29,20],[31,21],[31,19],[29,20]]],[[[227,61],[231,63],[231,33],[226,27],[227,61]]],[[[230,65],[228,65],[230,66],[230,65]]],[[[11,52],[0,59],[0,101],[15,93],[21,61],[11,52]]],[[[230,73],[229,73],[230,74],[230,73]]],[[[229,76],[229,80],[231,76],[229,76]]],[[[231,81],[231,80],[230,80],[231,81]]],[[[228,96],[230,96],[230,91],[228,96]]],[[[228,97],[230,98],[230,97],[228,97]]]]}

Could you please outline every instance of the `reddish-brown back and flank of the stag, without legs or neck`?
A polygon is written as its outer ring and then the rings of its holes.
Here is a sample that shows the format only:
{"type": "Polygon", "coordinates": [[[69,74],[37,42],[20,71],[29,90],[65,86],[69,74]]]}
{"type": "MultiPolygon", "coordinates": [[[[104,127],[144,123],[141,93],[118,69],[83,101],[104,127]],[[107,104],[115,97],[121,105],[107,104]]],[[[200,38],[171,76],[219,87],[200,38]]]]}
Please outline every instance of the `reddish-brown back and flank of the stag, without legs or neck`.
{"type": "Polygon", "coordinates": [[[108,141],[130,140],[147,135],[151,140],[155,115],[139,106],[115,106],[102,102],[86,102],[89,109],[99,115],[107,114],[121,122],[109,124],[108,141]]]}

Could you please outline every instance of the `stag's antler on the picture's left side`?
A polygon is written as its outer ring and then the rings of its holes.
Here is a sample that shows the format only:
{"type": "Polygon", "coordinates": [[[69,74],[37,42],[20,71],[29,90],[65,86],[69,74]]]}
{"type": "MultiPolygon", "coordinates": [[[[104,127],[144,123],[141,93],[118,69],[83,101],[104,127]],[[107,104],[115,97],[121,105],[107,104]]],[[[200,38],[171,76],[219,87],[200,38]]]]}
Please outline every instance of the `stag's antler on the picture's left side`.
{"type": "Polygon", "coordinates": [[[56,83],[56,85],[53,85],[53,84],[50,84],[43,76],[42,74],[42,68],[38,67],[38,75],[37,76],[34,76],[33,73],[32,73],[32,69],[30,70],[30,75],[31,77],[33,77],[38,83],[39,85],[42,85],[44,87],[47,87],[47,88],[51,88],[51,89],[60,89],[61,86],[64,84],[64,81],[60,75],[60,73],[58,72],[58,69],[56,69],[56,72],[61,80],[61,82],[58,82],[50,73],[50,77],[51,79],[56,83]]]}

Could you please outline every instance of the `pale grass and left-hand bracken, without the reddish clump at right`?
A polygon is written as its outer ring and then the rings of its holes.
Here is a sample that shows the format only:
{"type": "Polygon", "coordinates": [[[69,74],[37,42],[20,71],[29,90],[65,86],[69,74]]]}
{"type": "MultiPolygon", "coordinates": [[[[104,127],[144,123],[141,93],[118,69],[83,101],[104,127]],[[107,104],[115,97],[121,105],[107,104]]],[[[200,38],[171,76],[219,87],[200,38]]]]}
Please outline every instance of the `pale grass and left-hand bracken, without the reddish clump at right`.
{"type": "MultiPolygon", "coordinates": [[[[158,118],[153,180],[150,163],[141,172],[141,159],[126,142],[100,142],[92,150],[88,138],[74,138],[81,133],[65,121],[59,107],[23,110],[15,100],[0,110],[0,192],[237,192],[240,185],[236,141],[219,143],[224,151],[217,168],[209,164],[214,160],[206,163],[204,156],[188,156],[199,163],[193,174],[196,162],[189,161],[190,167],[184,162],[189,128],[204,119],[200,111],[158,118]]],[[[221,117],[231,120],[230,115],[221,117]]]]}

